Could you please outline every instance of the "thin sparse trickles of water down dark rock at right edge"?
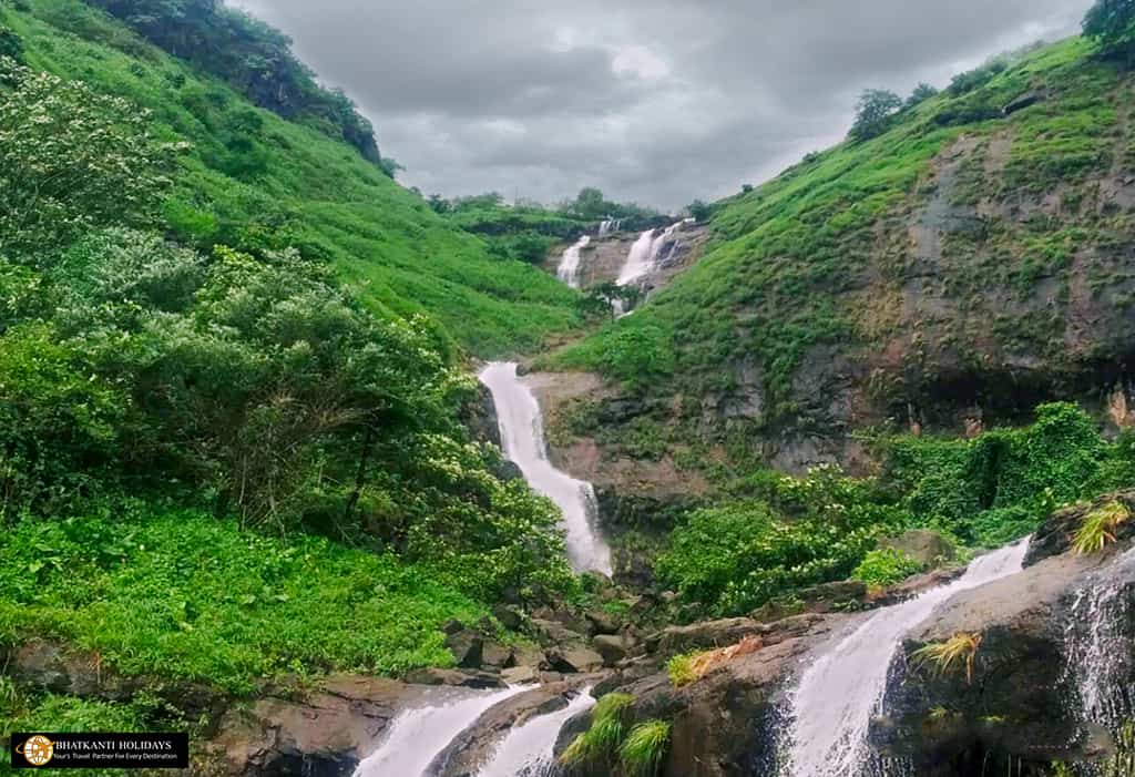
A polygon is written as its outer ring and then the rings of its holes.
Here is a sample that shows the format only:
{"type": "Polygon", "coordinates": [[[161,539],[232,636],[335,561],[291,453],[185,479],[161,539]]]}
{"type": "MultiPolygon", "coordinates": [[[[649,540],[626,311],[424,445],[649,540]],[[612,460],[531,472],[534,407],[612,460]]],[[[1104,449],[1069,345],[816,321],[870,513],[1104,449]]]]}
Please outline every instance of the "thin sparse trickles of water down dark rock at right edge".
{"type": "Polygon", "coordinates": [[[1081,717],[1112,734],[1135,716],[1133,611],[1135,548],[1076,592],[1065,632],[1067,672],[1079,696],[1081,717]]]}

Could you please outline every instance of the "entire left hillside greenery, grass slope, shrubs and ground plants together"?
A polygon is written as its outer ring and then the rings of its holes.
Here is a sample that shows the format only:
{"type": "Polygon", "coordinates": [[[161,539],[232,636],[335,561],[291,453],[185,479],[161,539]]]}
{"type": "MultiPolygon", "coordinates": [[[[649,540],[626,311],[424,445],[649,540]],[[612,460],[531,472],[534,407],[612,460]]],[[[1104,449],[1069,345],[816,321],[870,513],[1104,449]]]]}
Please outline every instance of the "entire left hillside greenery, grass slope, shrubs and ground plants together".
{"type": "Polygon", "coordinates": [[[463,356],[578,295],[313,129],[326,95],[286,121],[76,0],[0,25],[0,644],[244,693],[446,665],[445,620],[574,592],[460,417],[463,356]]]}

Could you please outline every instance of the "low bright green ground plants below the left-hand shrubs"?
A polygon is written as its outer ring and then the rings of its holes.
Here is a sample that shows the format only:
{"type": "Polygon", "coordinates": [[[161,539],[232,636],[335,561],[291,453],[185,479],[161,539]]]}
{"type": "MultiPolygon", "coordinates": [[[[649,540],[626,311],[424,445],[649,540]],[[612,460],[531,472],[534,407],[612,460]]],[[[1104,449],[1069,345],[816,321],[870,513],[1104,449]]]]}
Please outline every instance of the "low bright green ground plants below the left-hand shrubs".
{"type": "Polygon", "coordinates": [[[442,624],[487,615],[460,569],[257,535],[197,512],[126,505],[8,534],[0,642],[54,637],[127,675],[246,692],[288,673],[449,666],[442,624]]]}

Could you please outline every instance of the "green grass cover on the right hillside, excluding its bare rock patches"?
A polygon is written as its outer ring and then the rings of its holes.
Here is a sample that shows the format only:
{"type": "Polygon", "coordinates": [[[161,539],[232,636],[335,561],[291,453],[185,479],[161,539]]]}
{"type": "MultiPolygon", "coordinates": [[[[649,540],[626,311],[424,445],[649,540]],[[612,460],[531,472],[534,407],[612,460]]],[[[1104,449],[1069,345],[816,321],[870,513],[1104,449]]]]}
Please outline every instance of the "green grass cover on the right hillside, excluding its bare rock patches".
{"type": "MultiPolygon", "coordinates": [[[[973,138],[984,150],[999,133],[1011,138],[1003,169],[989,176],[962,166],[953,204],[1035,199],[1058,186],[1067,204],[1051,220],[990,218],[981,245],[966,244],[962,236],[948,240],[941,281],[962,320],[930,330],[927,340],[965,351],[992,328],[1007,348],[1065,357],[1059,333],[1070,257],[1077,250],[1121,244],[1132,222],[1125,213],[1077,212],[1073,199],[1088,194],[1076,187],[1090,175],[1135,162],[1135,142],[1118,115],[1130,104],[1130,79],[1092,61],[1090,49],[1074,39],[1034,52],[976,92],[934,98],[878,138],[816,154],[720,203],[714,242],[698,265],[636,315],[554,361],[631,383],[651,375],[661,394],[696,394],[729,390],[732,365],[751,360],[763,371],[771,404],[791,414],[792,377],[814,346],[869,355],[909,336],[911,322],[888,305],[898,297],[890,293],[918,282],[924,269],[907,247],[907,226],[933,195],[924,184],[936,158],[959,138],[973,138]],[[1031,88],[1048,90],[1049,99],[1008,119],[966,120],[974,107],[999,109],[1031,88]],[[935,120],[947,115],[955,118],[945,126],[935,120]],[[876,287],[865,280],[872,276],[880,279],[876,287]],[[1060,314],[1034,306],[1023,320],[1006,305],[989,312],[992,321],[965,320],[965,311],[997,295],[1027,299],[1042,277],[1062,289],[1060,314]]],[[[1112,280],[1105,270],[1090,278],[1093,292],[1112,280]]],[[[1119,309],[1130,302],[1111,301],[1119,309]]]]}

